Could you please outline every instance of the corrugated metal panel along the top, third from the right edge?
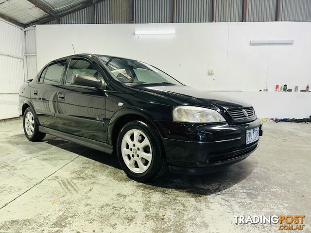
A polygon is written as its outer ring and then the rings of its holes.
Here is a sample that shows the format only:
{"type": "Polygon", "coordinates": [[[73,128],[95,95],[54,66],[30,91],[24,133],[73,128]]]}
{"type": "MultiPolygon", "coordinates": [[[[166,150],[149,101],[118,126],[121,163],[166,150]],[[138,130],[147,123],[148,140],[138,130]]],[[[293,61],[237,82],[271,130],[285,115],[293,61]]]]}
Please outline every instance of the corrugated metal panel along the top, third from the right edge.
{"type": "Polygon", "coordinates": [[[215,0],[214,22],[241,22],[243,0],[215,0]]]}

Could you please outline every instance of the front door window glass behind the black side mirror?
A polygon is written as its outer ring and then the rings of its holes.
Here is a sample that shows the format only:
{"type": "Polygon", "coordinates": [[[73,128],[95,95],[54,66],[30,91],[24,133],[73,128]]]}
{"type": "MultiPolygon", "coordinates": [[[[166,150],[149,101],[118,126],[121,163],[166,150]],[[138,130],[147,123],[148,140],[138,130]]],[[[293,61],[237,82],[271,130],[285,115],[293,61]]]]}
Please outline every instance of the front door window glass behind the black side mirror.
{"type": "Polygon", "coordinates": [[[72,84],[73,77],[77,74],[92,75],[98,79],[97,69],[85,60],[71,60],[66,75],[65,84],[72,84]]]}

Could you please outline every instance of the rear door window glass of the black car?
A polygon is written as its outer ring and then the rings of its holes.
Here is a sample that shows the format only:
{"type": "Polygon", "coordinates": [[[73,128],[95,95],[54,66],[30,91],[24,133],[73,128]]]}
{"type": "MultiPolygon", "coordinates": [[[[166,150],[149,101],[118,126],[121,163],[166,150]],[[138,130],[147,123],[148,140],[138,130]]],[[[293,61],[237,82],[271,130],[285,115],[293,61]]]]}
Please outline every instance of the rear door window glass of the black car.
{"type": "Polygon", "coordinates": [[[60,82],[62,73],[65,67],[65,61],[60,63],[55,63],[47,67],[40,77],[40,83],[54,83],[57,84],[60,82]]]}

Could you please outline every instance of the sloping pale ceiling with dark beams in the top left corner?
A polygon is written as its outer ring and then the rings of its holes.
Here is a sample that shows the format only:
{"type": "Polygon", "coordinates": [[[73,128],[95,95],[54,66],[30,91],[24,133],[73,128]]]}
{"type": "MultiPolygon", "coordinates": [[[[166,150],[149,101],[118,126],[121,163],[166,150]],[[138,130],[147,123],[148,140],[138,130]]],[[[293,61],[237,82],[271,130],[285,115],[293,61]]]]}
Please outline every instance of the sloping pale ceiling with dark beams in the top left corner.
{"type": "Polygon", "coordinates": [[[87,7],[92,0],[0,0],[0,17],[21,27],[87,7]]]}

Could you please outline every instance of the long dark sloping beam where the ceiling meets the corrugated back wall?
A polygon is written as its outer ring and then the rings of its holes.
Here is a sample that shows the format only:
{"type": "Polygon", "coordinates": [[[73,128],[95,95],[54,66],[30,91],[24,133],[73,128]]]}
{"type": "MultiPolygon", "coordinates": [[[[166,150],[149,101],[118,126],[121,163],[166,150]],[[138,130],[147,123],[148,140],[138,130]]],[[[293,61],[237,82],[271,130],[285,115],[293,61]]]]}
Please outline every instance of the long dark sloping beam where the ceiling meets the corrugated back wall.
{"type": "MultiPolygon", "coordinates": [[[[71,13],[74,13],[76,11],[82,10],[82,9],[84,9],[86,7],[92,6],[92,5],[97,4],[97,3],[101,2],[101,1],[104,1],[104,0],[96,0],[95,3],[92,0],[87,0],[85,2],[82,2],[80,4],[72,6],[72,7],[70,7],[67,10],[58,12],[57,13],[57,17],[60,18],[60,17],[67,16],[67,15],[69,15],[71,13]]],[[[45,23],[50,22],[50,21],[52,21],[54,19],[55,19],[55,17],[43,17],[43,18],[40,18],[38,20],[35,20],[33,22],[30,22],[30,23],[26,24],[26,27],[33,26],[35,24],[45,24],[45,23]]]]}

